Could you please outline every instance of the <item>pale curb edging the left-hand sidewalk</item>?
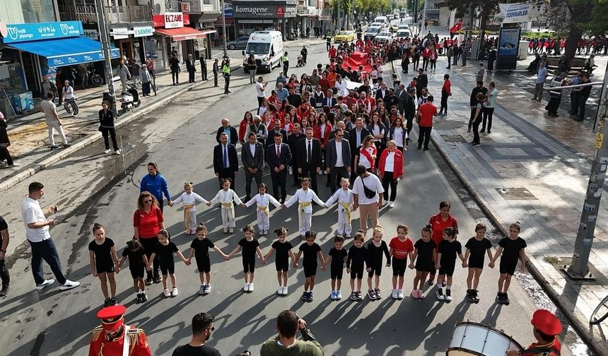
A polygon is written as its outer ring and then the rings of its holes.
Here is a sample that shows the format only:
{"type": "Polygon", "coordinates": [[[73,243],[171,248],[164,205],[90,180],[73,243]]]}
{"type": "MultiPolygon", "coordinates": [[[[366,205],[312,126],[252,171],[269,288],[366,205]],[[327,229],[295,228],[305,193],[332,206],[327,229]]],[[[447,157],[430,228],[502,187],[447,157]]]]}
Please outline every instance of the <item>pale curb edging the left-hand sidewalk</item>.
{"type": "MultiPolygon", "coordinates": [[[[230,71],[236,71],[239,68],[240,68],[240,66],[230,66],[230,71]]],[[[147,105],[146,107],[142,108],[141,110],[139,110],[137,112],[131,112],[130,114],[124,115],[125,116],[124,119],[116,122],[114,126],[116,129],[118,129],[121,126],[127,125],[127,124],[131,123],[132,121],[135,121],[139,117],[144,116],[144,115],[148,114],[149,112],[152,112],[153,110],[158,109],[158,107],[162,107],[163,105],[167,104],[168,102],[173,101],[175,99],[175,97],[177,97],[178,95],[186,93],[187,91],[192,90],[192,88],[195,88],[198,85],[203,85],[203,84],[204,84],[204,82],[199,81],[198,83],[195,83],[194,85],[184,86],[184,87],[180,88],[179,90],[177,90],[176,92],[174,92],[173,94],[168,95],[168,97],[151,102],[150,105],[147,105]]],[[[69,148],[59,150],[57,152],[57,154],[52,155],[51,157],[49,157],[45,160],[42,160],[42,162],[35,163],[33,167],[30,167],[27,170],[23,170],[23,171],[19,172],[18,174],[16,174],[14,177],[8,178],[4,182],[1,182],[0,183],[0,192],[6,191],[7,189],[11,188],[12,186],[15,186],[16,184],[18,184],[20,182],[23,182],[25,179],[32,177],[37,172],[47,169],[47,167],[49,167],[50,165],[58,162],[59,160],[62,160],[63,158],[68,157],[72,153],[75,153],[77,150],[81,150],[82,148],[89,146],[90,144],[94,143],[95,141],[100,140],[101,138],[103,138],[101,133],[99,131],[96,131],[95,133],[88,136],[87,138],[84,138],[81,141],[76,141],[76,143],[72,144],[69,148]]]]}

